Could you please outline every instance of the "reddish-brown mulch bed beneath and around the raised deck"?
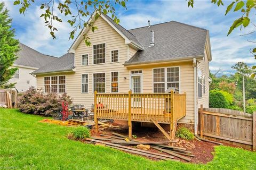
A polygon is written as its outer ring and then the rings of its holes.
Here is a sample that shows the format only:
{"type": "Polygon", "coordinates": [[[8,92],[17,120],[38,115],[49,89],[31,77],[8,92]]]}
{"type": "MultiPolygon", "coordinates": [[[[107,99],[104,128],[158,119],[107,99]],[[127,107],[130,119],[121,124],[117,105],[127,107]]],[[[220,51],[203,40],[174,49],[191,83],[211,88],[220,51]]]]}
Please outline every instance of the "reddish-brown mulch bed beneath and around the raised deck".
{"type": "MultiPolygon", "coordinates": [[[[118,125],[120,128],[107,128],[104,130],[100,130],[98,133],[95,133],[95,130],[91,130],[92,137],[99,136],[100,134],[111,134],[111,132],[116,132],[119,134],[127,135],[128,133],[128,125],[127,121],[115,121],[112,123],[112,125],[118,125]]],[[[166,141],[166,137],[160,132],[157,128],[147,128],[140,126],[135,126],[132,131],[133,135],[136,135],[137,140],[140,141],[166,141]]],[[[214,152],[214,146],[216,144],[211,142],[204,142],[204,141],[198,141],[197,139],[193,141],[186,141],[177,138],[178,143],[175,143],[177,147],[184,147],[187,148],[187,150],[192,151],[192,155],[195,155],[195,157],[189,157],[191,158],[191,161],[189,163],[196,163],[196,164],[206,164],[207,162],[211,162],[213,159],[213,152],[214,152]]],[[[174,145],[174,146],[175,146],[174,145]]],[[[155,150],[153,148],[150,148],[149,151],[152,152],[158,152],[158,150],[155,150]]],[[[161,154],[164,154],[163,152],[161,154]]],[[[155,158],[150,158],[151,160],[158,160],[155,158]]],[[[175,158],[178,159],[178,158],[175,158]]],[[[179,159],[181,162],[186,162],[183,159],[179,159]]]]}

